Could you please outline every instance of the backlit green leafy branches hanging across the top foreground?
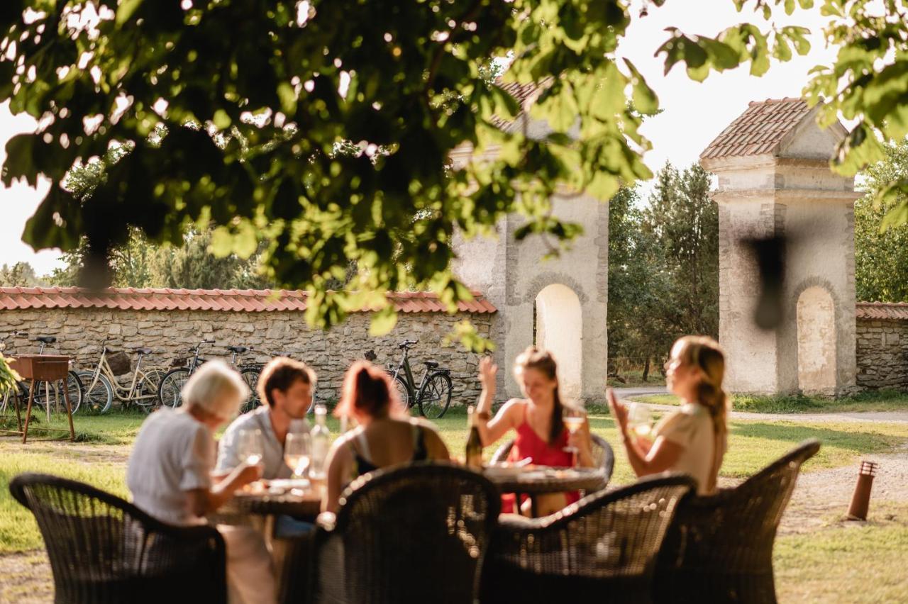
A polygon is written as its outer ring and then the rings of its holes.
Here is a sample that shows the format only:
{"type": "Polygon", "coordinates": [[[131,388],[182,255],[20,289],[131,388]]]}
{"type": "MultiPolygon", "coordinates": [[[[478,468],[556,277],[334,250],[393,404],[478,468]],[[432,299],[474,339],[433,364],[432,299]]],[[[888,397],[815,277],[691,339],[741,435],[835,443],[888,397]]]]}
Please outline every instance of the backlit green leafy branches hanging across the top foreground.
{"type": "MultiPolygon", "coordinates": [[[[733,1],[767,22],[796,8],[733,1]]],[[[824,2],[843,51],[811,98],[860,120],[844,170],[870,157],[874,132],[908,128],[908,78],[896,77],[904,20],[894,0],[883,2],[888,19],[870,17],[871,4],[824,2]]],[[[0,102],[40,128],[9,141],[3,179],[52,180],[25,229],[35,248],[70,250],[84,237],[106,258],[132,228],[179,244],[193,224],[212,224],[219,256],[249,257],[267,241],[267,278],[311,289],[317,325],[386,304],[389,289],[429,287],[453,304],[469,297],[449,272],[455,227],[475,236],[519,212],[518,236],[565,239],[579,228],[551,216],[553,191],[607,200],[619,182],[650,176],[638,126],[658,100],[617,58],[632,18],[618,0],[6,0],[0,102]],[[531,112],[551,126],[545,140],[495,125],[518,112],[488,83],[489,59],[508,53],[506,78],[551,78],[531,112]],[[497,159],[453,170],[449,151],[464,143],[497,159]],[[74,165],[112,151],[89,195],[64,186],[74,165]],[[329,292],[350,261],[349,289],[329,292]]],[[[806,53],[805,34],[772,23],[715,39],[672,30],[659,52],[666,71],[684,63],[697,80],[742,63],[760,75],[770,57],[806,53]]],[[[393,323],[387,305],[373,317],[377,332],[393,323]]]]}

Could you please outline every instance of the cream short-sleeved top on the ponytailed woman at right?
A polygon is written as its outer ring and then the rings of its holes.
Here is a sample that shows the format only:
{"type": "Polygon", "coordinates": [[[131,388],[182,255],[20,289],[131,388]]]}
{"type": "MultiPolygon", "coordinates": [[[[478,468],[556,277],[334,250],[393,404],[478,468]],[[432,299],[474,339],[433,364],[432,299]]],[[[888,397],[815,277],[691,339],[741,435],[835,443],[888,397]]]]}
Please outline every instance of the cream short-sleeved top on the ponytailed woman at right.
{"type": "MultiPolygon", "coordinates": [[[[662,418],[656,425],[654,435],[684,447],[678,461],[669,471],[691,476],[696,481],[697,494],[709,494],[706,485],[709,484],[716,453],[716,433],[709,410],[699,403],[683,404],[680,409],[662,418]]],[[[720,456],[725,454],[726,446],[724,441],[722,450],[717,452],[720,456]]]]}

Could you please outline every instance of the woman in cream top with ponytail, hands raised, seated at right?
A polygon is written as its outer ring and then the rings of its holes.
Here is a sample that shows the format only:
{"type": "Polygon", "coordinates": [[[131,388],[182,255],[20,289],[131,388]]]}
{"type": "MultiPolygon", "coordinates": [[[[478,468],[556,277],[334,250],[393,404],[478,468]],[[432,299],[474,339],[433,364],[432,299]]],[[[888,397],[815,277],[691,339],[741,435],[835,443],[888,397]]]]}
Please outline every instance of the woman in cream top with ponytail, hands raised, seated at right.
{"type": "Polygon", "coordinates": [[[627,461],[637,476],[681,472],[694,478],[697,494],[716,491],[728,434],[724,375],[725,356],[715,340],[706,336],[679,339],[666,363],[666,385],[683,404],[656,425],[652,440],[629,433],[627,408],[608,390],[627,461]]]}

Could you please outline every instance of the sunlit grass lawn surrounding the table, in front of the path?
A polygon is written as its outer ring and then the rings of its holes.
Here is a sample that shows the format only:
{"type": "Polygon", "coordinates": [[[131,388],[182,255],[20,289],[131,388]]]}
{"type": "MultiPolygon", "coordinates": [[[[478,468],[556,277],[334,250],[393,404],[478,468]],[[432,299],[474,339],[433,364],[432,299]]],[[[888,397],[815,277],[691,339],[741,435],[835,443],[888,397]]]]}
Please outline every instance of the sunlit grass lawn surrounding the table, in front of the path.
{"type": "MultiPolygon", "coordinates": [[[[593,431],[616,452],[612,482],[631,482],[624,453],[617,446],[614,422],[604,409],[589,411],[593,431]]],[[[125,460],[143,419],[142,414],[120,412],[76,416],[80,442],[74,444],[35,441],[23,446],[18,439],[0,439],[4,460],[0,464],[0,553],[43,547],[31,514],[9,495],[7,485],[15,474],[64,475],[125,497],[125,460]]],[[[63,424],[60,419],[53,422],[54,427],[63,424]]],[[[452,409],[436,425],[451,453],[461,456],[467,438],[465,411],[452,409]]],[[[332,434],[338,434],[339,425],[332,418],[329,427],[332,434]]],[[[38,435],[36,431],[34,436],[38,435]]],[[[722,474],[745,477],[806,438],[823,442],[821,452],[804,466],[804,472],[812,472],[908,443],[908,424],[735,421],[722,474]]],[[[487,447],[487,457],[494,450],[487,447]]],[[[871,519],[854,523],[829,518],[818,530],[779,537],[775,569],[781,601],[904,599],[908,592],[908,575],[903,572],[908,565],[908,503],[873,502],[871,519]]]]}

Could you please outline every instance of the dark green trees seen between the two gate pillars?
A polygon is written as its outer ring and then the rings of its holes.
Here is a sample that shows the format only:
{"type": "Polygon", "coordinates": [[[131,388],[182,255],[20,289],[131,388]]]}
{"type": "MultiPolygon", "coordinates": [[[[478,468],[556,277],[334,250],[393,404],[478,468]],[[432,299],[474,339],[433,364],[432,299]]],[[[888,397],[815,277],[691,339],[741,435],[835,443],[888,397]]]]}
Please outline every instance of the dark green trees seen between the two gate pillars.
{"type": "Polygon", "coordinates": [[[718,336],[718,212],[708,172],[670,163],[649,200],[625,188],[608,207],[608,355],[658,369],[679,336],[718,336]]]}

